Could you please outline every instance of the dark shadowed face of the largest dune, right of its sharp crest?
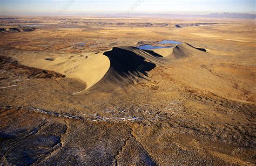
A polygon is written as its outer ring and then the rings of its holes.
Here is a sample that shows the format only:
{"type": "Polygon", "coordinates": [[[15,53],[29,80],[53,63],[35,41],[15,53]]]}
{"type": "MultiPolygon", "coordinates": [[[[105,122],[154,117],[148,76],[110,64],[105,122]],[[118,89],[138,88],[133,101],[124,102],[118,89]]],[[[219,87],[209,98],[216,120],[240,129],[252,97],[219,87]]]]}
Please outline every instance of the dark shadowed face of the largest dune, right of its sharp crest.
{"type": "Polygon", "coordinates": [[[154,56],[146,58],[146,54],[136,47],[113,48],[104,55],[109,57],[110,69],[92,89],[107,90],[144,80],[147,71],[156,67],[154,56]]]}

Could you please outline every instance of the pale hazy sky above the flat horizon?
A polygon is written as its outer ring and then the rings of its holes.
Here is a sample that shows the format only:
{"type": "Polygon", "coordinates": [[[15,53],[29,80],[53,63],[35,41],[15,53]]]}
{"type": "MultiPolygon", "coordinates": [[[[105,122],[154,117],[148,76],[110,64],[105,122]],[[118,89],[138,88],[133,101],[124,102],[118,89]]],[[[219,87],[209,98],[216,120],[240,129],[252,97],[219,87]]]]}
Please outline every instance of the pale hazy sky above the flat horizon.
{"type": "Polygon", "coordinates": [[[255,0],[0,0],[0,15],[79,13],[255,13],[255,0]]]}

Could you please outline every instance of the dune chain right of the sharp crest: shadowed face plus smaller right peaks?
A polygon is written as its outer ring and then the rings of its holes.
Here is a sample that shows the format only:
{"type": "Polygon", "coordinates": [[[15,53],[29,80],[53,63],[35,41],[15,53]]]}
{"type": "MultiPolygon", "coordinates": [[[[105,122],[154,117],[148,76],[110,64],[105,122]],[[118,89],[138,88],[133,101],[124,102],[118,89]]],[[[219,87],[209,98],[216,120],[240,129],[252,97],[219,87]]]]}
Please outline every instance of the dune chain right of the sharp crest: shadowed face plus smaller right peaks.
{"type": "Polygon", "coordinates": [[[158,65],[170,65],[174,60],[206,56],[205,49],[182,44],[174,48],[142,50],[118,47],[103,53],[110,59],[110,69],[91,90],[111,90],[147,80],[147,73],[158,65]]]}

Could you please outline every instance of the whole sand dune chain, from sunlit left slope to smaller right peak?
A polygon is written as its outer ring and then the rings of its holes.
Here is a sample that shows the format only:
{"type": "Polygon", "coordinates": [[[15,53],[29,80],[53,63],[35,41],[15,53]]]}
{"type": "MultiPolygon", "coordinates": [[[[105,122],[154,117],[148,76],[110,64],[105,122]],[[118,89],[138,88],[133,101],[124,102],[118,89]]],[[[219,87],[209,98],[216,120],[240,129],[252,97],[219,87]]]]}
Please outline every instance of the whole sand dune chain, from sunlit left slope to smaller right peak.
{"type": "MultiPolygon", "coordinates": [[[[205,49],[196,48],[190,44],[154,50],[114,47],[99,54],[52,54],[40,58],[31,55],[31,59],[18,58],[18,60],[26,66],[53,70],[70,78],[77,78],[86,83],[86,89],[111,90],[146,81],[147,73],[156,66],[169,65],[174,60],[192,56],[205,56],[208,54],[205,51],[205,49]]],[[[74,80],[71,80],[72,84],[74,84],[73,82],[74,80]]],[[[62,82],[60,81],[60,83],[62,82]]],[[[67,80],[65,80],[65,84],[69,84],[67,80]]]]}

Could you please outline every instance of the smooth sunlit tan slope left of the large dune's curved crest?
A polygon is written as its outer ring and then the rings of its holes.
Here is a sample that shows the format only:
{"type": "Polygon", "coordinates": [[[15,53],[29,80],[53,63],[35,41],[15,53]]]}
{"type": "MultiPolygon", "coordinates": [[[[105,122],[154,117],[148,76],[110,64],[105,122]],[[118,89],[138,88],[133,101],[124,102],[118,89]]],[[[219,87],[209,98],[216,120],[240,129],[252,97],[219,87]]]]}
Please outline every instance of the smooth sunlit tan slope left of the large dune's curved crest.
{"type": "Polygon", "coordinates": [[[103,54],[43,54],[38,57],[31,53],[29,58],[19,56],[18,60],[26,66],[57,71],[70,78],[78,78],[86,83],[86,89],[102,79],[110,67],[109,59],[103,54]]]}

